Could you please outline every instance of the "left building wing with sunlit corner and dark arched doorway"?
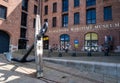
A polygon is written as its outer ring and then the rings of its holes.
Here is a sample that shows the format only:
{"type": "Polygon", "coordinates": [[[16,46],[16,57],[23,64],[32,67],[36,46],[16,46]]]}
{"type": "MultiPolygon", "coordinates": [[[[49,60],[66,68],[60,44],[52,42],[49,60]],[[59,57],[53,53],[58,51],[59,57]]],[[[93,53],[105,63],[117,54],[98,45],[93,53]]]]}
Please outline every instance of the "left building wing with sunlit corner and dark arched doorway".
{"type": "Polygon", "coordinates": [[[31,46],[37,6],[38,0],[0,0],[0,53],[31,46]]]}

